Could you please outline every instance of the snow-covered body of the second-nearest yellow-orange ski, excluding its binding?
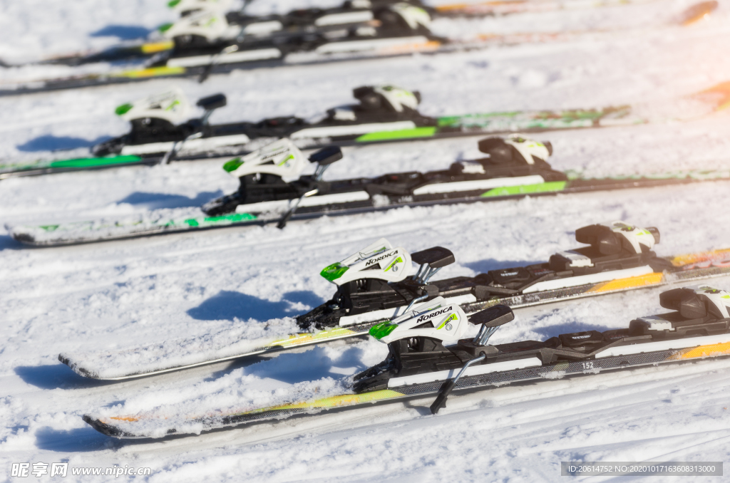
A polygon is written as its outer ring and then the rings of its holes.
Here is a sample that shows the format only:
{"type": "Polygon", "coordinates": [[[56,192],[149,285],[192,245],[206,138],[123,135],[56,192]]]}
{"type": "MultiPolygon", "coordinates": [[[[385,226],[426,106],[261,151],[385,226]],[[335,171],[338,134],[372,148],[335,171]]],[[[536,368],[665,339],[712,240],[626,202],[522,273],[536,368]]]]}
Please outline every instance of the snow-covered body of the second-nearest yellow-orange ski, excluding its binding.
{"type": "MultiPolygon", "coordinates": [[[[638,277],[617,278],[607,282],[588,283],[556,290],[493,297],[487,301],[475,302],[473,297],[471,301],[466,298],[464,301],[453,298],[452,302],[462,304],[464,312],[471,314],[497,304],[517,309],[730,274],[730,249],[677,255],[667,257],[666,260],[672,263],[673,268],[663,273],[655,272],[638,277]]],[[[399,309],[402,311],[404,308],[399,309]]],[[[399,309],[391,310],[392,313],[389,314],[379,312],[362,314],[358,316],[359,320],[349,320],[346,322],[347,325],[327,328],[323,331],[302,333],[293,319],[270,320],[256,324],[255,328],[237,326],[196,339],[169,340],[147,347],[120,351],[63,353],[58,358],[81,376],[93,379],[129,379],[337,339],[364,336],[373,325],[393,317],[399,309]]]]}

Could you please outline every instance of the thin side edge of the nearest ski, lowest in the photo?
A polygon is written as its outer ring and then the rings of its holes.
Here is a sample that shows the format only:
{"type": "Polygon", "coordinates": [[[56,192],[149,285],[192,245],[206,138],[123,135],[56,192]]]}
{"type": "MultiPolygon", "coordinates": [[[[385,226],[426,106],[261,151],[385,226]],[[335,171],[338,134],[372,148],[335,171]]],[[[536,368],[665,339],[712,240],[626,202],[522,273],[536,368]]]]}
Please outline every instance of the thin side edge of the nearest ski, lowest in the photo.
{"type": "MultiPolygon", "coordinates": [[[[730,334],[726,334],[730,338],[730,334]]],[[[698,339],[702,339],[701,337],[698,339]]],[[[577,361],[561,361],[543,364],[528,368],[495,371],[475,376],[464,376],[459,379],[454,390],[479,390],[488,387],[509,385],[518,382],[528,382],[540,379],[562,379],[565,376],[581,376],[599,374],[602,371],[615,371],[623,368],[640,366],[658,366],[666,363],[687,363],[709,358],[726,358],[730,355],[730,341],[716,344],[697,345],[683,349],[665,349],[658,351],[639,352],[629,355],[617,355],[606,358],[592,358],[577,361]]],[[[264,420],[283,420],[297,414],[318,414],[324,411],[337,409],[357,409],[360,406],[372,403],[396,402],[404,398],[418,398],[424,395],[438,393],[445,380],[425,382],[397,387],[397,390],[385,389],[370,393],[344,393],[327,398],[305,401],[293,401],[278,406],[243,409],[228,414],[207,415],[205,417],[188,417],[188,420],[200,422],[203,431],[234,428],[264,420]]],[[[115,438],[159,438],[166,436],[183,435],[171,428],[164,436],[146,434],[142,431],[131,432],[118,426],[119,422],[144,422],[144,417],[135,415],[100,417],[85,414],[83,420],[94,429],[115,438]]],[[[193,434],[193,433],[188,433],[193,434]]]]}

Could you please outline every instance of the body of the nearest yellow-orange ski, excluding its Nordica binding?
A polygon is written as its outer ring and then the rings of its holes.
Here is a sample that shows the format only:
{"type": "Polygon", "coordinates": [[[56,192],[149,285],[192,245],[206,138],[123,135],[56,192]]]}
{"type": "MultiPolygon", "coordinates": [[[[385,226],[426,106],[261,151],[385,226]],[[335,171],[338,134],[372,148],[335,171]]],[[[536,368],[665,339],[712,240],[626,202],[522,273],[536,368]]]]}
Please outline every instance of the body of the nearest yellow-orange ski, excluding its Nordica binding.
{"type": "MultiPolygon", "coordinates": [[[[642,338],[636,338],[642,339],[642,338]]],[[[510,344],[507,344],[510,345],[510,344]]],[[[499,347],[499,346],[496,346],[499,347]]],[[[621,368],[657,366],[671,362],[688,362],[702,358],[716,358],[730,355],[730,333],[711,336],[695,336],[685,339],[649,341],[620,347],[612,347],[585,360],[541,363],[537,357],[507,360],[481,366],[472,366],[458,379],[453,390],[476,390],[502,386],[515,382],[541,379],[560,379],[565,376],[597,374],[621,368]]],[[[200,434],[218,428],[232,428],[246,423],[263,420],[283,420],[296,414],[315,414],[332,409],[356,408],[369,403],[394,402],[405,398],[416,398],[439,393],[445,379],[453,378],[458,371],[447,371],[444,379],[427,379],[404,385],[393,385],[384,390],[355,394],[342,388],[339,394],[323,398],[310,395],[274,406],[234,406],[191,414],[187,409],[174,405],[161,406],[152,411],[137,414],[113,414],[103,411],[86,414],[83,419],[94,429],[115,438],[163,438],[171,435],[200,434]]],[[[344,386],[344,385],[343,385],[344,386]]],[[[332,393],[334,390],[322,391],[332,393]]]]}

